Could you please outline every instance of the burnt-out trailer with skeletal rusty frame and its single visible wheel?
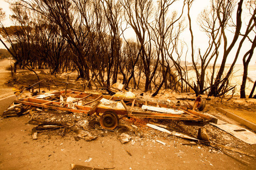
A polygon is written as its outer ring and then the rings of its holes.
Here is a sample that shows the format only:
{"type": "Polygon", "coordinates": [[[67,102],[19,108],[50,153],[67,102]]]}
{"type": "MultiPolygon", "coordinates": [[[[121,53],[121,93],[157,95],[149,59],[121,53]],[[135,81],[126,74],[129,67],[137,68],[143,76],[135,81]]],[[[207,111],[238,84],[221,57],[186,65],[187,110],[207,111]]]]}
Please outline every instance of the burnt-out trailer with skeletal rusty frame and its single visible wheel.
{"type": "MultiPolygon", "coordinates": [[[[158,103],[149,100],[103,95],[91,91],[81,92],[74,89],[54,91],[45,95],[16,99],[15,103],[28,106],[70,111],[100,116],[100,125],[105,129],[114,129],[121,118],[156,118],[183,121],[185,125],[205,125],[209,122],[216,123],[217,119],[199,113],[195,109],[158,103]],[[68,98],[75,100],[67,102],[68,98]],[[103,101],[107,100],[107,104],[103,101]],[[117,107],[117,105],[123,107],[117,107]]],[[[195,102],[200,105],[200,101],[195,102]]],[[[195,107],[194,107],[195,108],[195,107]]]]}

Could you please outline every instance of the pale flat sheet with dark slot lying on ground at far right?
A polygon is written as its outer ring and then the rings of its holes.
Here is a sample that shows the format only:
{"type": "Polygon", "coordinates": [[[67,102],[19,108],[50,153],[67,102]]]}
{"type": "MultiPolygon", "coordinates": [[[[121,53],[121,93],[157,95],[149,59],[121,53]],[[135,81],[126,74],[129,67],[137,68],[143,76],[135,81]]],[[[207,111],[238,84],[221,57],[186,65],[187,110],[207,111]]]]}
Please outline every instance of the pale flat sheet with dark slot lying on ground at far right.
{"type": "Polygon", "coordinates": [[[220,128],[221,130],[224,130],[225,132],[228,132],[229,134],[235,136],[236,138],[242,140],[243,142],[249,143],[251,145],[256,144],[256,134],[245,128],[225,123],[224,121],[221,121],[221,123],[219,123],[219,120],[218,124],[210,124],[220,128]]]}

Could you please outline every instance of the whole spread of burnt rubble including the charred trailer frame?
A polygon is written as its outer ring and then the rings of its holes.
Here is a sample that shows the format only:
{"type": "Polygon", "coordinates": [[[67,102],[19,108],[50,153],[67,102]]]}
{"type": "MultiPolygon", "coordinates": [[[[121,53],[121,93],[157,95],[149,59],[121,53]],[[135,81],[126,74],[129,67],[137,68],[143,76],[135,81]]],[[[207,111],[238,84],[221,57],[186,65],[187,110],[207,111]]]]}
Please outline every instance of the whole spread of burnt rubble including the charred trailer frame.
{"type": "MultiPolygon", "coordinates": [[[[119,87],[113,88],[114,90],[120,90],[119,87]]],[[[120,94],[122,95],[133,94],[131,91],[131,93],[123,91],[122,88],[121,90],[120,94]]],[[[117,96],[84,93],[75,90],[48,92],[39,94],[37,97],[16,100],[16,102],[19,101],[21,103],[8,108],[2,116],[30,114],[31,120],[28,121],[28,123],[37,125],[32,129],[32,139],[40,139],[39,133],[50,131],[57,132],[59,135],[70,134],[75,141],[83,139],[85,141],[91,141],[98,136],[109,135],[110,133],[111,135],[116,135],[121,143],[130,141],[129,144],[131,145],[144,145],[145,142],[151,142],[149,146],[152,146],[155,142],[158,142],[166,147],[167,144],[163,141],[171,141],[171,139],[179,137],[189,140],[188,143],[181,143],[184,146],[191,145],[188,147],[193,147],[194,145],[194,147],[198,149],[204,149],[202,144],[209,146],[210,153],[224,153],[225,151],[223,149],[226,149],[255,157],[252,153],[236,149],[239,146],[235,144],[231,136],[216,128],[220,125],[226,126],[227,123],[221,124],[219,123],[221,121],[218,123],[215,121],[215,123],[212,122],[210,124],[216,127],[207,124],[203,128],[194,128],[197,126],[186,125],[186,119],[192,120],[192,122],[195,120],[198,121],[199,119],[197,118],[200,118],[200,121],[207,119],[206,123],[208,123],[209,120],[213,120],[212,117],[197,112],[196,108],[185,108],[181,103],[178,105],[174,104],[177,102],[169,99],[167,101],[138,100],[132,96],[133,95],[131,95],[130,98],[119,98],[117,96]],[[102,116],[104,112],[108,113],[107,116],[102,116]],[[184,116],[181,121],[179,120],[180,116],[184,116]],[[189,116],[191,116],[191,119],[189,119],[189,116]],[[149,122],[147,118],[153,119],[150,119],[151,121],[149,122]],[[167,120],[163,118],[167,118],[167,120]],[[113,120],[115,120],[115,122],[112,122],[113,120]],[[108,126],[110,128],[108,128],[108,126]]],[[[214,118],[214,120],[215,119],[216,118],[214,118]]],[[[247,133],[248,130],[236,128],[232,132],[228,130],[225,131],[234,135],[237,133],[247,133]]],[[[237,135],[234,136],[239,138],[237,135]]],[[[249,136],[251,135],[249,134],[249,136]]],[[[250,139],[256,142],[252,137],[250,137],[250,139]]],[[[245,140],[242,141],[245,142],[245,140]]],[[[174,141],[174,143],[176,145],[178,142],[174,141]]],[[[253,144],[253,142],[250,144],[253,144]]],[[[126,150],[126,152],[132,156],[128,150],[126,150]]],[[[182,154],[183,152],[181,151],[177,155],[181,157],[182,154]]],[[[225,154],[228,155],[229,153],[226,152],[225,154]]],[[[85,160],[85,162],[91,160],[92,158],[89,158],[85,160]]],[[[246,161],[241,159],[240,162],[246,163],[246,161]]]]}

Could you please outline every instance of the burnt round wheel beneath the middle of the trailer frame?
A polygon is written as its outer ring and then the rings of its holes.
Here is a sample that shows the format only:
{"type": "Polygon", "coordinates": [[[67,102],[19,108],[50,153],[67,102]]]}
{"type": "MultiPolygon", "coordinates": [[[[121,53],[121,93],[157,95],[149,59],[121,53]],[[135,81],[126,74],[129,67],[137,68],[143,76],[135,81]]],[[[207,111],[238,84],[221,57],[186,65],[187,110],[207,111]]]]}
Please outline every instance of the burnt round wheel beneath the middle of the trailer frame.
{"type": "Polygon", "coordinates": [[[114,111],[105,111],[100,117],[100,125],[104,129],[113,130],[117,127],[119,118],[114,111]]]}

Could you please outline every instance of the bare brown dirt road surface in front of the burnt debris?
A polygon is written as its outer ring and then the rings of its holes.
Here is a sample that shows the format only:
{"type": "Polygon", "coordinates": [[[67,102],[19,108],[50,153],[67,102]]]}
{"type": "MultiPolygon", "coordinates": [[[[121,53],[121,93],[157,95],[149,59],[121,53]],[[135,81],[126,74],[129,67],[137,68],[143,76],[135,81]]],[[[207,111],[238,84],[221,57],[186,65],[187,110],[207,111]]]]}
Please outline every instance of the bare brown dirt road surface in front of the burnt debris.
{"type": "MultiPolygon", "coordinates": [[[[3,63],[0,62],[0,68],[3,63]]],[[[1,89],[10,93],[11,87],[4,86],[4,81],[10,78],[7,75],[10,73],[0,74],[1,89]]],[[[29,119],[27,114],[0,120],[0,169],[70,170],[70,164],[102,169],[115,167],[114,170],[256,169],[255,158],[241,154],[241,159],[251,163],[244,165],[221,152],[210,153],[209,146],[184,146],[182,143],[189,143],[188,140],[174,136],[164,139],[161,136],[165,134],[157,131],[154,139],[145,135],[134,146],[131,142],[122,144],[117,132],[105,131],[99,131],[98,138],[89,142],[75,141],[71,134],[61,137],[57,130],[39,133],[38,139],[33,140],[31,129],[35,125],[26,125],[29,119]],[[154,142],[155,139],[167,145],[154,142]],[[85,162],[89,158],[91,161],[85,162]]],[[[255,145],[238,146],[238,149],[256,154],[255,145]]]]}

